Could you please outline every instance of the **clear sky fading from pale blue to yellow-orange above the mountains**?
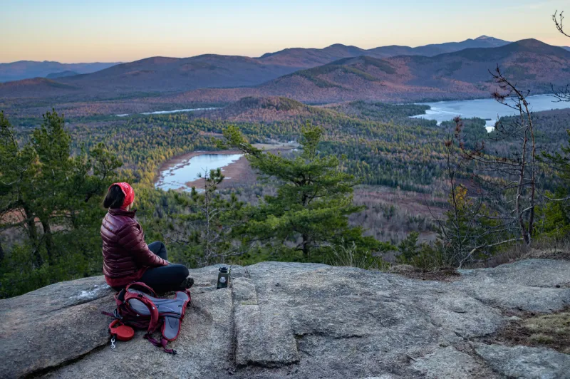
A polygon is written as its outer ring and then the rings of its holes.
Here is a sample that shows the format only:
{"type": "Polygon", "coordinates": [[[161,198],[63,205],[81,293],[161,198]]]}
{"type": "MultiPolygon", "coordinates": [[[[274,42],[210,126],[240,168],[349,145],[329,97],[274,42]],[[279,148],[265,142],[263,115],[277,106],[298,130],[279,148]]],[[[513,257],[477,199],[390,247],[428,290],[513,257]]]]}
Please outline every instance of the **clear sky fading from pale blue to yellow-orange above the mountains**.
{"type": "Polygon", "coordinates": [[[0,63],[261,56],[333,43],[374,48],[481,35],[570,46],[559,0],[0,0],[0,63]]]}

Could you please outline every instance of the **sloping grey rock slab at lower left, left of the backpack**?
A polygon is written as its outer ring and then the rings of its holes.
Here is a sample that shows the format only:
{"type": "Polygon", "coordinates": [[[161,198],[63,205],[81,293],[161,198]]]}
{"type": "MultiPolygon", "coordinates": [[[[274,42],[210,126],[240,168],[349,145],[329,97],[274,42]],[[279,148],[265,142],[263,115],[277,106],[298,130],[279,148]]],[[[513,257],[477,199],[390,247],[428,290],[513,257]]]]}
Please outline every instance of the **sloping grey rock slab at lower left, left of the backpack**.
{"type": "Polygon", "coordinates": [[[0,376],[18,378],[85,355],[109,341],[112,290],[102,276],[0,300],[0,376]]]}

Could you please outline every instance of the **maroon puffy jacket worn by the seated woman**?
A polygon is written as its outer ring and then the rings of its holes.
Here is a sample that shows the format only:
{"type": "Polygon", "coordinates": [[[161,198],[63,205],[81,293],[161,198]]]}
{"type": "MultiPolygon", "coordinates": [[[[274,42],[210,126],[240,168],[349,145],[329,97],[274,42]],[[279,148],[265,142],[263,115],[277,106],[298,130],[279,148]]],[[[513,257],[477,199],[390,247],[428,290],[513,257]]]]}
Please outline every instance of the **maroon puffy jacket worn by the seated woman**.
{"type": "Polygon", "coordinates": [[[125,286],[140,279],[150,267],[168,262],[148,249],[135,212],[110,208],[101,225],[103,274],[110,286],[125,286]]]}

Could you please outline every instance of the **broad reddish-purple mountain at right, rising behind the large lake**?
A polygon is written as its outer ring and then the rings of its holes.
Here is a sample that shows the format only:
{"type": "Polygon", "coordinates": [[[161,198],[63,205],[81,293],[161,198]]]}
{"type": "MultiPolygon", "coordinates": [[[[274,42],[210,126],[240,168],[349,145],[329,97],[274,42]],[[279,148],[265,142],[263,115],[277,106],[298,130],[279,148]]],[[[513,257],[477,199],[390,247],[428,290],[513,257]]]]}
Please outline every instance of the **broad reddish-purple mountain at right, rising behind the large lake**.
{"type": "Polygon", "coordinates": [[[224,102],[246,95],[280,95],[306,103],[477,98],[488,96],[496,88],[489,70],[494,70],[497,64],[505,76],[534,94],[549,92],[550,83],[570,83],[570,52],[529,39],[497,48],[467,48],[433,57],[343,58],[254,88],[190,91],[175,98],[188,102],[224,102]]]}

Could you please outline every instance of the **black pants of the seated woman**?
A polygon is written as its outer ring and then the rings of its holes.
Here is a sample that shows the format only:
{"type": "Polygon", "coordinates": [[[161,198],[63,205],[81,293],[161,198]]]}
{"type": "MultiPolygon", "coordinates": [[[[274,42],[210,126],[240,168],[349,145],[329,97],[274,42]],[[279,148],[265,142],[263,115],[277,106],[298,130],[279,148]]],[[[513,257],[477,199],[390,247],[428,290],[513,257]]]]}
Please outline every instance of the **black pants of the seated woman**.
{"type": "MultiPolygon", "coordinates": [[[[166,246],[162,242],[152,242],[148,245],[150,251],[160,258],[167,260],[166,246]]],[[[188,276],[188,269],[183,264],[169,264],[168,266],[147,269],[139,281],[150,286],[157,292],[177,291],[180,284],[188,276]]]]}

